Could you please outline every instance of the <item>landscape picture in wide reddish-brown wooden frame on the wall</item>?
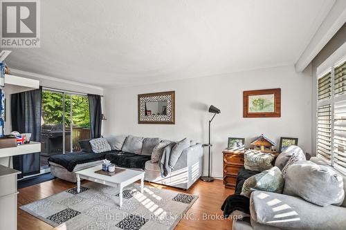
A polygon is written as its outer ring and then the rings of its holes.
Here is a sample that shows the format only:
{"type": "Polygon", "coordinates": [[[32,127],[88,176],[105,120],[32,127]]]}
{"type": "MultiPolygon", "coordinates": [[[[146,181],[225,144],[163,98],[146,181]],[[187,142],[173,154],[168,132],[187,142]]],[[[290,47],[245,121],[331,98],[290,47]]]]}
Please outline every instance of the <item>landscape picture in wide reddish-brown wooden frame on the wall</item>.
{"type": "Polygon", "coordinates": [[[281,117],[281,89],[244,91],[243,105],[244,117],[281,117]]]}

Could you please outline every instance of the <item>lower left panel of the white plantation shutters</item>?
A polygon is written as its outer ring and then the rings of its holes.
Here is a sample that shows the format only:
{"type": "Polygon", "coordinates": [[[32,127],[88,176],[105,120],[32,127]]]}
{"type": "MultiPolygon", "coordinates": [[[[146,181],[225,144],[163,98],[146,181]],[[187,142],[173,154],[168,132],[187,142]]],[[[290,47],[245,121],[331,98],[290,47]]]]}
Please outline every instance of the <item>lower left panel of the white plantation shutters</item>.
{"type": "Polygon", "coordinates": [[[331,160],[331,106],[318,107],[317,112],[317,153],[325,160],[331,160]]]}

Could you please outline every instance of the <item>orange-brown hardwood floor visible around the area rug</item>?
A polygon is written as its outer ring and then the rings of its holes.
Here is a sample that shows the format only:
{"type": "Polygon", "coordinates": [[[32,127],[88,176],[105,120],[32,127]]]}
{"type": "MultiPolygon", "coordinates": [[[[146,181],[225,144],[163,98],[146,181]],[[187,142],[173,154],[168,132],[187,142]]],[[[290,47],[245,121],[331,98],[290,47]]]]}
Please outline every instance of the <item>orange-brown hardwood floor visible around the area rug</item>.
{"type": "MultiPolygon", "coordinates": [[[[149,183],[145,182],[146,185],[149,183]]],[[[18,207],[24,204],[28,204],[35,200],[46,198],[60,191],[73,188],[74,183],[66,182],[64,180],[56,179],[41,184],[19,189],[18,194],[18,207]]],[[[218,230],[230,230],[232,229],[231,220],[215,220],[215,216],[222,215],[220,209],[221,204],[224,202],[228,195],[233,194],[232,189],[225,189],[222,180],[215,180],[214,182],[206,183],[201,180],[197,181],[188,191],[181,189],[174,189],[171,187],[161,186],[158,184],[150,184],[150,186],[159,186],[174,191],[181,191],[183,193],[189,193],[193,195],[199,195],[199,198],[188,213],[192,220],[183,219],[176,226],[176,230],[185,229],[218,229],[218,230]],[[210,218],[206,220],[206,216],[210,218]]],[[[33,215],[18,209],[18,230],[48,230],[53,229],[51,225],[46,224],[42,220],[39,220],[33,215]]],[[[159,229],[157,229],[159,230],[159,229]]]]}

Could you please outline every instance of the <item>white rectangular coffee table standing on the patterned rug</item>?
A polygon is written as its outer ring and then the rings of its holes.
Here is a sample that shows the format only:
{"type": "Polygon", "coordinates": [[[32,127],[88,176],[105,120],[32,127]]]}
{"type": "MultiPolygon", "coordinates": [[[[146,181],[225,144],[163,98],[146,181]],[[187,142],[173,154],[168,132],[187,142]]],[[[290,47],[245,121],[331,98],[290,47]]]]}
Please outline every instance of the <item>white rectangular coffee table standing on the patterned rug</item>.
{"type": "MultiPolygon", "coordinates": [[[[93,166],[88,169],[83,169],[80,171],[76,171],[77,175],[77,192],[80,193],[80,180],[85,179],[92,182],[97,182],[100,184],[106,184],[108,186],[118,187],[119,188],[119,206],[122,207],[122,189],[125,186],[140,180],[140,193],[143,193],[144,188],[144,171],[136,171],[132,169],[125,169],[116,175],[102,175],[100,173],[95,173],[102,169],[102,164],[98,166],[93,166]]],[[[122,168],[119,168],[122,169],[122,168]]]]}

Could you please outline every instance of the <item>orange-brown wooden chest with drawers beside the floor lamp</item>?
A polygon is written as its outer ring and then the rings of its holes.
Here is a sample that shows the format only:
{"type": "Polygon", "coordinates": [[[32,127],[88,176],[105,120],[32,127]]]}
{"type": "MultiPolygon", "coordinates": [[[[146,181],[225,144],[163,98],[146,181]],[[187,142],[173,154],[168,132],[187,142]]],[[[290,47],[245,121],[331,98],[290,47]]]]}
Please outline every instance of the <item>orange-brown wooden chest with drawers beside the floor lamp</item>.
{"type": "Polygon", "coordinates": [[[244,168],[244,151],[228,151],[224,153],[224,184],[225,188],[235,189],[240,168],[244,168]]]}

